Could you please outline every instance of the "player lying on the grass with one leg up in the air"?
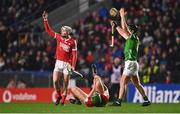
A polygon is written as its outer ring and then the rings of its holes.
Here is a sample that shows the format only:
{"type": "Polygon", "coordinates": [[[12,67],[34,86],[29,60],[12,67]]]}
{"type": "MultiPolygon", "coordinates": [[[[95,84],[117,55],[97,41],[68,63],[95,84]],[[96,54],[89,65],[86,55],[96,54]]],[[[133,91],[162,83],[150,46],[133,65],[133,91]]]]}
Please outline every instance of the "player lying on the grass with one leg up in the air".
{"type": "Polygon", "coordinates": [[[105,106],[109,100],[109,91],[106,85],[102,82],[100,76],[96,73],[96,66],[92,65],[93,71],[93,88],[89,94],[86,94],[78,87],[72,87],[71,92],[75,99],[70,99],[70,103],[84,103],[88,107],[105,106]]]}

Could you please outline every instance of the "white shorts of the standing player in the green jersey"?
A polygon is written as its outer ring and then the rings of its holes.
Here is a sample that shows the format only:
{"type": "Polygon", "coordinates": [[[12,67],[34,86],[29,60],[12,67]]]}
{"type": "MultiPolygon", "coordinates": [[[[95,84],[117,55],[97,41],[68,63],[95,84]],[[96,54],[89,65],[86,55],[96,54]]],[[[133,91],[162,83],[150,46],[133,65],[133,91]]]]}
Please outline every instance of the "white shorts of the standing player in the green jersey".
{"type": "Polygon", "coordinates": [[[123,75],[126,76],[138,76],[139,64],[137,61],[125,61],[125,67],[123,75]]]}

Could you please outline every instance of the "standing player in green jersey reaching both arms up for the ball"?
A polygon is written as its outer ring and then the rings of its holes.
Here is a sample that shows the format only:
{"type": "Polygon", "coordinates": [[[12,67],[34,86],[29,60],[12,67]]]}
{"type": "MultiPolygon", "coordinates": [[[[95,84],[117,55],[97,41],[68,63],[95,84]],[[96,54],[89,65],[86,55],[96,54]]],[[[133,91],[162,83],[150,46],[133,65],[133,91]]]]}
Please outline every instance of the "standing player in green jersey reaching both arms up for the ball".
{"type": "MultiPolygon", "coordinates": [[[[111,25],[116,27],[118,33],[126,39],[124,46],[124,55],[125,55],[125,68],[123,71],[123,75],[120,80],[120,91],[119,98],[111,104],[112,106],[121,106],[122,99],[125,94],[125,89],[129,81],[132,81],[134,86],[142,95],[144,102],[142,106],[150,105],[150,101],[145,94],[143,86],[139,81],[139,64],[137,62],[138,59],[138,48],[139,48],[139,38],[137,36],[138,28],[135,25],[127,25],[125,15],[126,12],[124,8],[121,8],[119,11],[121,17],[121,26],[119,26],[115,21],[111,22],[111,25]]],[[[119,21],[119,20],[118,20],[119,21]]]]}

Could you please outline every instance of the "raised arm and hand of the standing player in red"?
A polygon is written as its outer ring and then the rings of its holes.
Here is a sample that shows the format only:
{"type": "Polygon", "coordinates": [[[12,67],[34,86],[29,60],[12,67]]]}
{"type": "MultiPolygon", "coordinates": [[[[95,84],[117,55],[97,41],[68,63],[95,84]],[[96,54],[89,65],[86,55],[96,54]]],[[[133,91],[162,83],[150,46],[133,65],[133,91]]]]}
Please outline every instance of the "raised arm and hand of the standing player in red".
{"type": "Polygon", "coordinates": [[[49,34],[49,36],[56,38],[56,33],[52,30],[52,28],[49,26],[48,23],[48,13],[46,11],[42,14],[43,22],[44,22],[44,28],[46,32],[49,34]]]}

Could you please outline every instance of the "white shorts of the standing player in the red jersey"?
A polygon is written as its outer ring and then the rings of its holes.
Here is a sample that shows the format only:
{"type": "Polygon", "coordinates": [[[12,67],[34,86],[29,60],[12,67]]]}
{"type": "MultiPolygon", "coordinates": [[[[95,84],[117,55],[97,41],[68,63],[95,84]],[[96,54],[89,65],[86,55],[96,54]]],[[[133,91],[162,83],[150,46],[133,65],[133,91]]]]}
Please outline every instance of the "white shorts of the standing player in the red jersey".
{"type": "Polygon", "coordinates": [[[71,71],[71,65],[68,62],[56,60],[54,71],[68,75],[71,71]]]}

